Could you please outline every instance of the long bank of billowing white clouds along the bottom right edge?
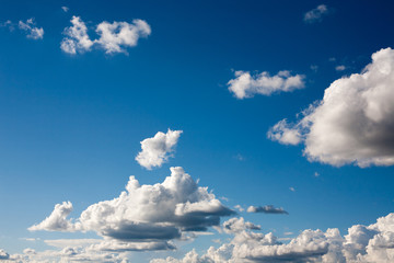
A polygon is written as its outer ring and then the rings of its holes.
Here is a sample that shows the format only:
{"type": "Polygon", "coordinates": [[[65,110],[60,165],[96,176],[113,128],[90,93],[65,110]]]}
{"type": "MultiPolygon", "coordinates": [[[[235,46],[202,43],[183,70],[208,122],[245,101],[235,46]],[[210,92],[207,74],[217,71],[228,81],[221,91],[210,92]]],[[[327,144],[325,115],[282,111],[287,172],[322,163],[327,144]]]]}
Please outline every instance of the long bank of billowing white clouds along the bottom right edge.
{"type": "MultiPolygon", "coordinates": [[[[322,262],[322,263],[389,263],[394,260],[394,214],[379,218],[370,226],[356,225],[348,235],[338,229],[304,230],[288,243],[273,233],[252,231],[243,218],[231,218],[223,229],[233,239],[218,249],[211,247],[204,255],[190,251],[184,259],[155,259],[151,263],[239,263],[239,262],[322,262]],[[228,227],[236,226],[236,227],[228,227]]],[[[258,228],[257,228],[258,229],[258,228]]]]}

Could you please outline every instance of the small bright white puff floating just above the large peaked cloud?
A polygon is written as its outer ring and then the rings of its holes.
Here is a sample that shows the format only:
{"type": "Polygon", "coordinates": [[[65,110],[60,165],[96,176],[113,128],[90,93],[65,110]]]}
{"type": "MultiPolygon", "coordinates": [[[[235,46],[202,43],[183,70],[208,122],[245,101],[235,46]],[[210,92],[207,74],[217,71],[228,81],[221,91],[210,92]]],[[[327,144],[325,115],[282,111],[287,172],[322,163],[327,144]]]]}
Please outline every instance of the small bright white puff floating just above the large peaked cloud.
{"type": "Polygon", "coordinates": [[[181,134],[182,130],[169,129],[166,134],[159,132],[154,137],[142,140],[142,150],[137,155],[136,161],[148,170],[161,167],[171,157],[181,134]]]}

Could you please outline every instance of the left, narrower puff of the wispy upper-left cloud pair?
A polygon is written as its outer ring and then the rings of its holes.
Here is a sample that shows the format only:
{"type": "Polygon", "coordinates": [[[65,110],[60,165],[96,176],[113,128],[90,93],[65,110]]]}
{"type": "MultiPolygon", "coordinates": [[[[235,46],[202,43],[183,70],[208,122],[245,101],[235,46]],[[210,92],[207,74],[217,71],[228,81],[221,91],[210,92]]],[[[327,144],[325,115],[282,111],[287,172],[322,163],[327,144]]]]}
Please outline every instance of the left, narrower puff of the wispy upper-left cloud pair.
{"type": "Polygon", "coordinates": [[[88,35],[85,23],[79,16],[72,16],[71,24],[72,26],[65,28],[66,37],[61,41],[61,50],[69,54],[89,52],[93,42],[88,35]]]}

